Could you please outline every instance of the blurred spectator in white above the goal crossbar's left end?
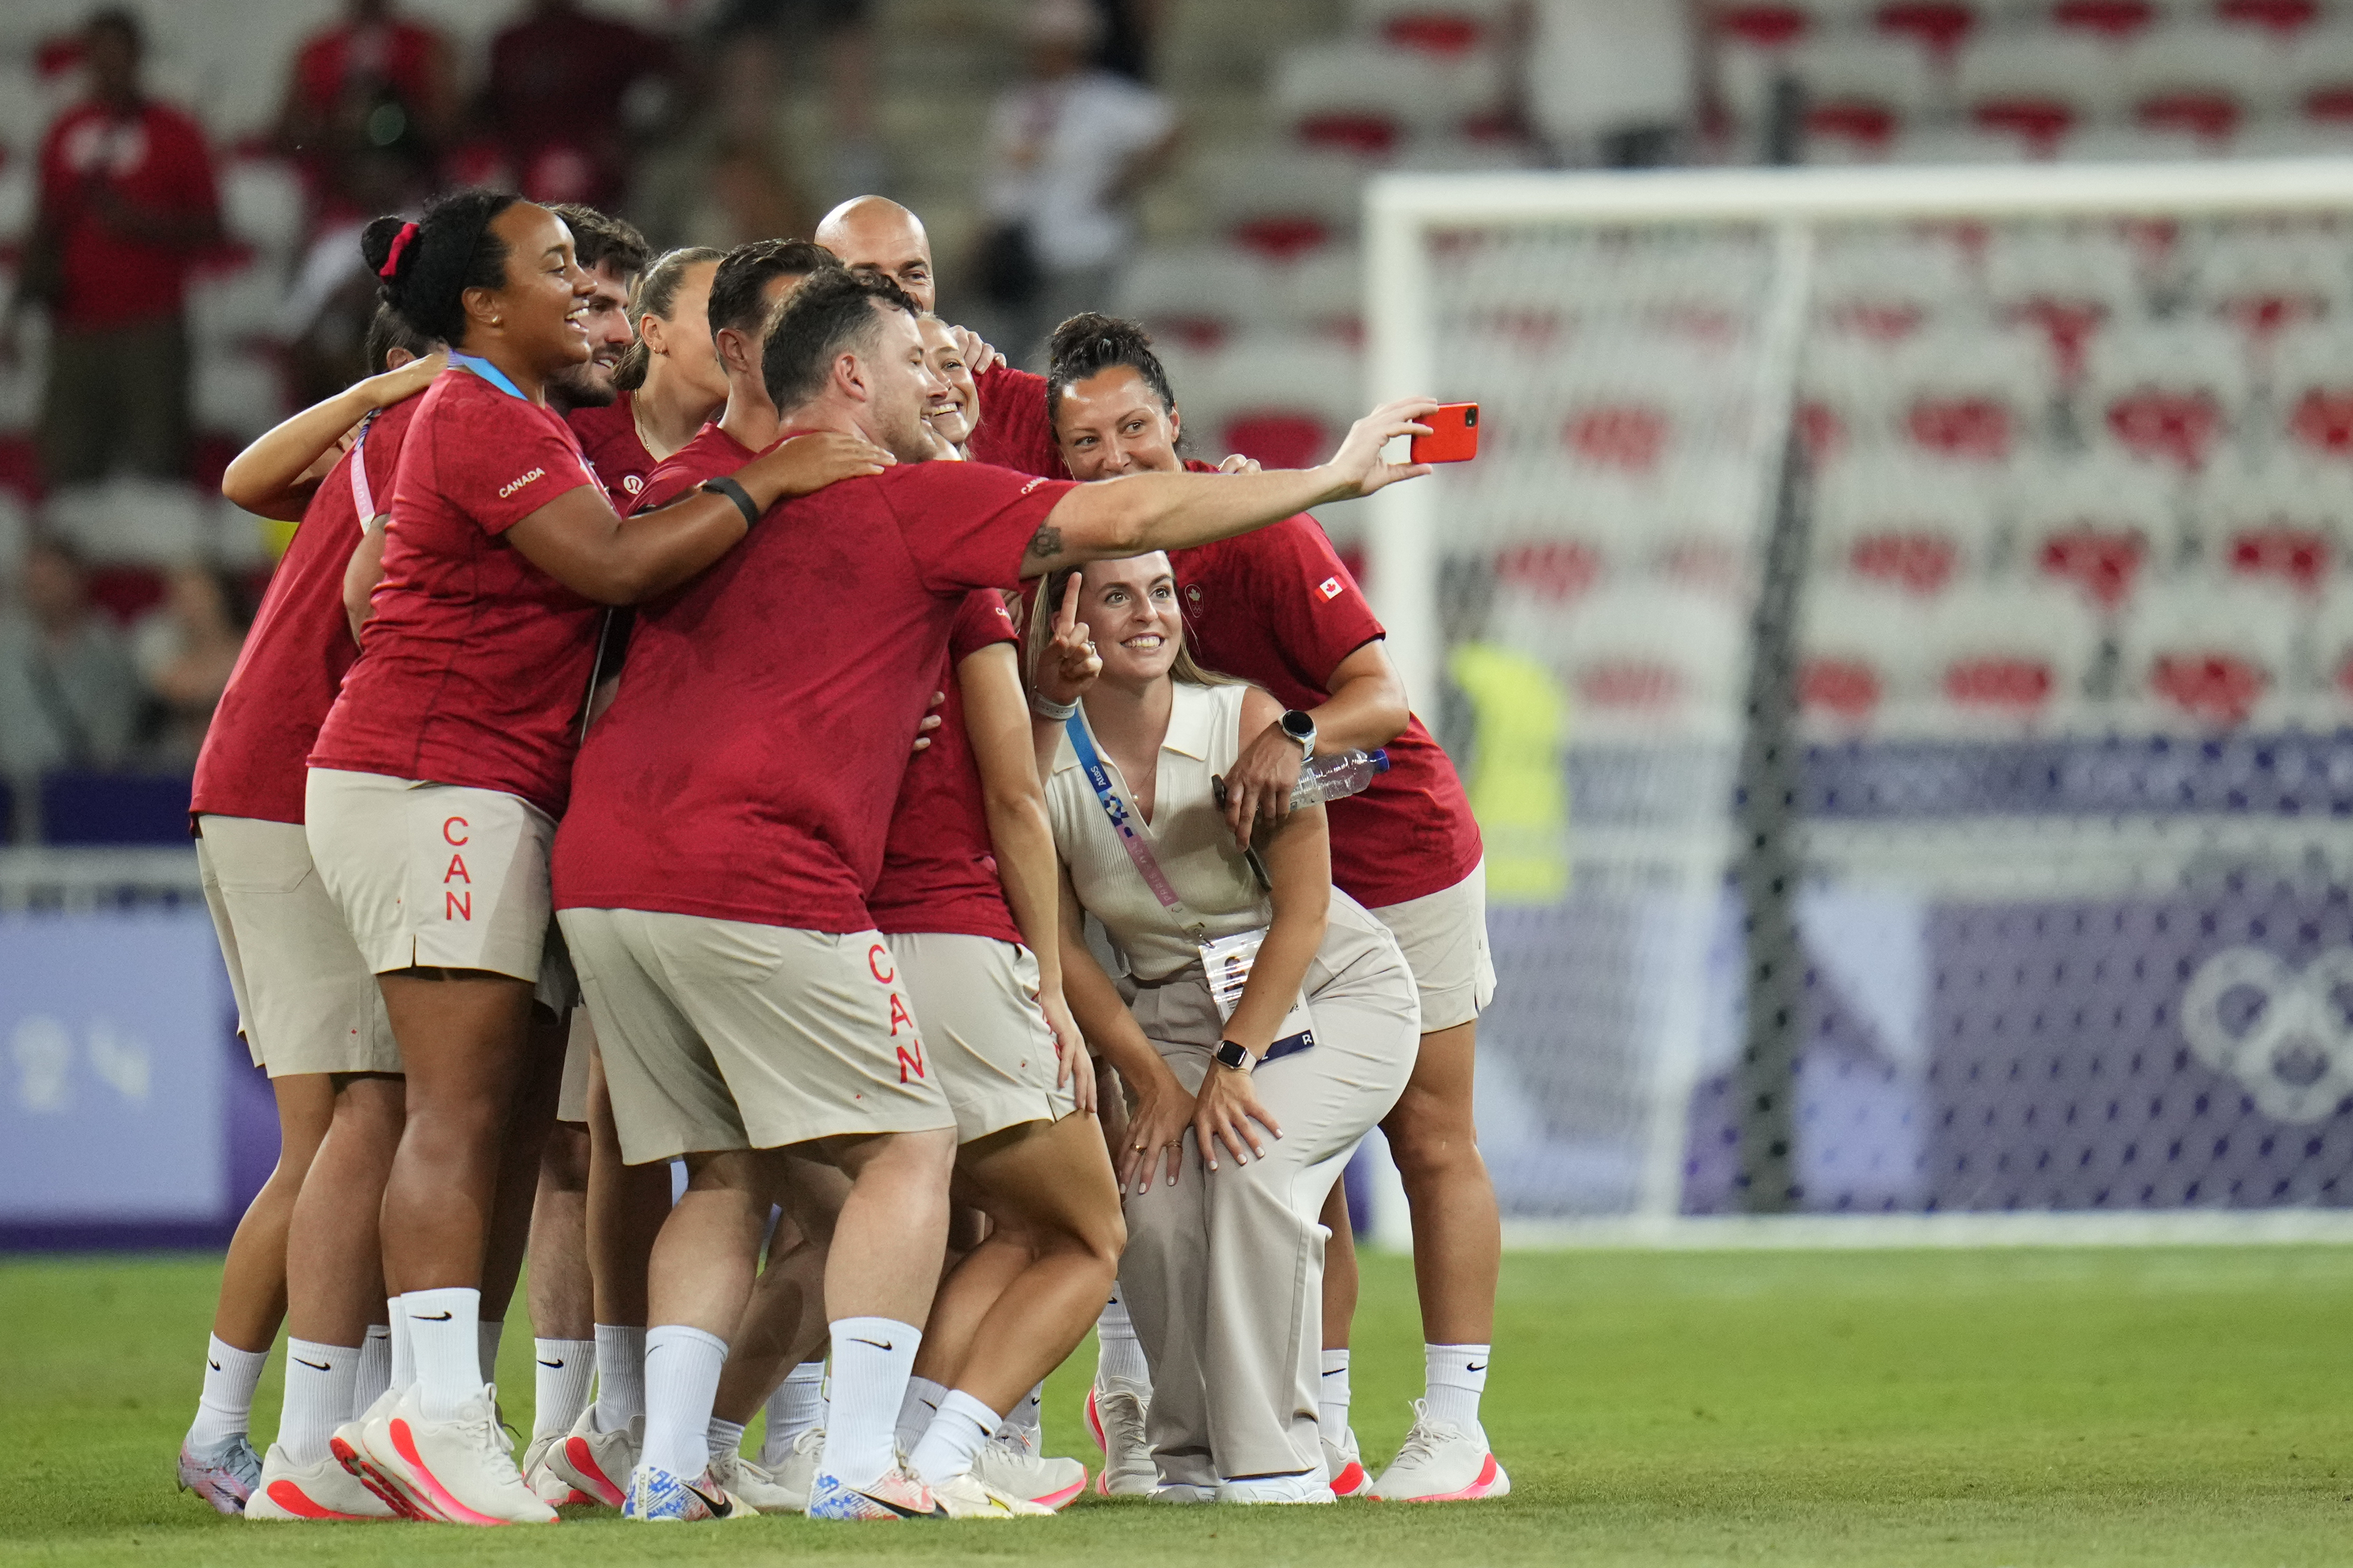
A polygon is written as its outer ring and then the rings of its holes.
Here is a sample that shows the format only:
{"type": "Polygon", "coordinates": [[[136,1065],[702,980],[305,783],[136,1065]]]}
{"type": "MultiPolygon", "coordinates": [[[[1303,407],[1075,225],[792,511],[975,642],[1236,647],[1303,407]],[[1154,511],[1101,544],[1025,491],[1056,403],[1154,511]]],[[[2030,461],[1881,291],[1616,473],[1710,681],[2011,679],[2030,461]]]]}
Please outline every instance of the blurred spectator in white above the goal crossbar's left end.
{"type": "Polygon", "coordinates": [[[1687,155],[1699,118],[1697,0],[1534,0],[1527,118],[1565,165],[1645,170],[1687,155]]]}

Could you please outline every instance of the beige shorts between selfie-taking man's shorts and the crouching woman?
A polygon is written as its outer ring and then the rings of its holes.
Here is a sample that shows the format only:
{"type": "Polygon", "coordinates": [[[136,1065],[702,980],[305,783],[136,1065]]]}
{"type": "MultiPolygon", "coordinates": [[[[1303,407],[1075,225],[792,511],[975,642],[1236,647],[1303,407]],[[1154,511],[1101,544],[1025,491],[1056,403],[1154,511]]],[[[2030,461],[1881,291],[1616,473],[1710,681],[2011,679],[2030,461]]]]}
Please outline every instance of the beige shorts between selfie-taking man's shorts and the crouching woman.
{"type": "Polygon", "coordinates": [[[885,937],[932,1071],[955,1111],[955,1142],[969,1144],[1026,1121],[1061,1121],[1075,1107],[1056,1088],[1061,1059],[1038,1005],[1038,956],[1016,942],[958,932],[885,937]]]}

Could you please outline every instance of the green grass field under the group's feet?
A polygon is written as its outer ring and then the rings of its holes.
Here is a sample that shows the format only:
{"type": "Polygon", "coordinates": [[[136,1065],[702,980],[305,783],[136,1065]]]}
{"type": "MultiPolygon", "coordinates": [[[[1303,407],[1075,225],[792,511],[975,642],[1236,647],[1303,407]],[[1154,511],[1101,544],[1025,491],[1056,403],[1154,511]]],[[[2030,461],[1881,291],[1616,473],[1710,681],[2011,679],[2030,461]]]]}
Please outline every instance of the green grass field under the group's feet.
{"type": "MultiPolygon", "coordinates": [[[[1504,1271],[1497,1504],[1155,1509],[842,1528],[285,1526],[172,1490],[216,1264],[0,1262],[0,1561],[2346,1563],[2353,1248],[1558,1253],[1504,1271]]],[[[527,1424],[529,1330],[508,1330],[527,1424]]],[[[1082,1370],[1056,1453],[1094,1457],[1082,1370]]],[[[1412,1281],[1367,1260],[1355,1417],[1419,1391],[1412,1281]]],[[[254,1410],[275,1431],[278,1363],[254,1410]]]]}

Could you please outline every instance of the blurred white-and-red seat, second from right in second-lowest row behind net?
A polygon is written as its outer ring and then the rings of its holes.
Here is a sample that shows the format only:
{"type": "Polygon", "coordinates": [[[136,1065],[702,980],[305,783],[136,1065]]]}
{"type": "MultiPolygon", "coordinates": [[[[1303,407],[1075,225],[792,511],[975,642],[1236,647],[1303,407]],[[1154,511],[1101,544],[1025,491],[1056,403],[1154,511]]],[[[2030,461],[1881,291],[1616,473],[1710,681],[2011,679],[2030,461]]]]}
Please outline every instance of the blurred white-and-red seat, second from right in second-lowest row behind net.
{"type": "Polygon", "coordinates": [[[2073,586],[2118,610],[2146,577],[2174,565],[2181,523],[2172,487],[2141,464],[2078,461],[2017,476],[2017,572],[2073,586]]]}

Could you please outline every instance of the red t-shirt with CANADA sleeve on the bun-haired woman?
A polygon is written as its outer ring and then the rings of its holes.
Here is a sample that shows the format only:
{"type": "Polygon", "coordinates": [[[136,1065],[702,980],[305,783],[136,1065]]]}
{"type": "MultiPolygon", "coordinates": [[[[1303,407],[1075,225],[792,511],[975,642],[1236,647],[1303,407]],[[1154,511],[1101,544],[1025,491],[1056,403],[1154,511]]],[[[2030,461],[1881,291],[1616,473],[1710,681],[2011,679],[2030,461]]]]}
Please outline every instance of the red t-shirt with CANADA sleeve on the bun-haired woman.
{"type": "Polygon", "coordinates": [[[313,768],[499,789],[562,815],[605,612],[501,534],[581,485],[595,476],[551,410],[471,372],[435,377],[400,447],[365,657],[313,768]]]}

